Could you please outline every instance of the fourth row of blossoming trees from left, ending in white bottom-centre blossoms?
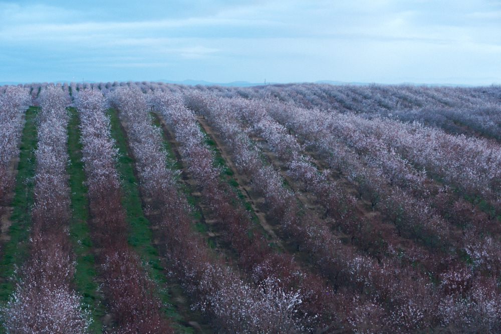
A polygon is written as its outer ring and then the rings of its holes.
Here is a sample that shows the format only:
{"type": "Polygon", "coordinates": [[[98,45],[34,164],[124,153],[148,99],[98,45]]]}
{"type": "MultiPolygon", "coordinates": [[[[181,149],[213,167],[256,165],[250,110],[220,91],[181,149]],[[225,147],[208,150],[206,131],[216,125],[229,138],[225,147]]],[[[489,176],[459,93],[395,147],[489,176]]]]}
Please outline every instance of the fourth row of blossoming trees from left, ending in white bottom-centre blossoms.
{"type": "MultiPolygon", "coordinates": [[[[239,275],[223,269],[223,263],[207,256],[207,247],[189,232],[189,219],[183,210],[186,204],[175,203],[175,197],[180,194],[171,172],[166,169],[161,137],[147,116],[142,93],[118,89],[111,99],[125,120],[143,187],[161,202],[172,260],[202,309],[214,314],[214,322],[229,331],[297,331],[298,324],[292,318],[297,311],[295,306],[301,303],[297,294],[274,287],[271,278],[257,287],[241,282],[239,275]],[[183,255],[175,257],[177,247],[183,248],[183,255]],[[263,308],[268,311],[263,313],[263,308]]],[[[168,94],[156,94],[150,99],[156,104],[173,101],[168,94]]]]}

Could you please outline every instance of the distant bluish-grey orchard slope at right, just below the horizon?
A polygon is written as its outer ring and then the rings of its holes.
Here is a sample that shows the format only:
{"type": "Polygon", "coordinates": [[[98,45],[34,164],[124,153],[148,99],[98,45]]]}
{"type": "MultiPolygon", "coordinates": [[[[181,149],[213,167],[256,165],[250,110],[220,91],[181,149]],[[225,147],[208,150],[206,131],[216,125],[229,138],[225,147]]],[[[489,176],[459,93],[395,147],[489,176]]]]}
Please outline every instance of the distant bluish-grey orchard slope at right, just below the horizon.
{"type": "Polygon", "coordinates": [[[476,131],[499,139],[501,106],[499,86],[458,88],[412,85],[332,86],[327,84],[292,85],[264,89],[240,95],[275,96],[299,106],[341,112],[356,112],[373,117],[397,117],[402,121],[420,121],[452,133],[476,131]]]}

